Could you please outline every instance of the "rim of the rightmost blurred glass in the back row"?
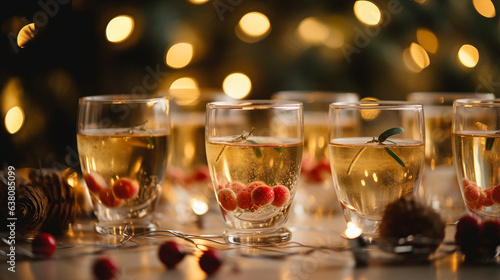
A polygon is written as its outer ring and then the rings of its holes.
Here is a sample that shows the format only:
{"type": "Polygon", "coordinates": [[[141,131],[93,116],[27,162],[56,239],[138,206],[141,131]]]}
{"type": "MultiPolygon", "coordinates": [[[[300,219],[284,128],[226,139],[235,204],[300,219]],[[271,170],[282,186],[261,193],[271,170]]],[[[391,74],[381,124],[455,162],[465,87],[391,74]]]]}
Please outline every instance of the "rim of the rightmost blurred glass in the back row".
{"type": "Polygon", "coordinates": [[[491,92],[439,92],[418,91],[408,94],[407,99],[424,105],[451,104],[457,99],[491,99],[495,94],[491,92]]]}

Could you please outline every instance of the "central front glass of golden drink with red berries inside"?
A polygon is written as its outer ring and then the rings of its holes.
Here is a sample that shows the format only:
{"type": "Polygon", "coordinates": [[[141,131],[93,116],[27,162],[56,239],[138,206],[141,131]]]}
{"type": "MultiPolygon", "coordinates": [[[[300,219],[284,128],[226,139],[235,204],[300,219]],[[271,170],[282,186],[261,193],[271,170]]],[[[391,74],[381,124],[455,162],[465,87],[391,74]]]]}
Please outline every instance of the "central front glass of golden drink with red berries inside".
{"type": "Polygon", "coordinates": [[[295,195],[303,150],[302,103],[207,104],[206,152],[231,243],[279,244],[295,195]]]}

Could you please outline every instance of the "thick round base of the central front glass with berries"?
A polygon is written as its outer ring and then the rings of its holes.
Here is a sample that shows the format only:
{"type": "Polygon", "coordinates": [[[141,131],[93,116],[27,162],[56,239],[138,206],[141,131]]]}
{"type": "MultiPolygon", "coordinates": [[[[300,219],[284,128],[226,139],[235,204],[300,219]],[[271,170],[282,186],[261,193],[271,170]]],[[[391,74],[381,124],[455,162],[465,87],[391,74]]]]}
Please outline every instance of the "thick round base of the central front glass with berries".
{"type": "Polygon", "coordinates": [[[292,239],[292,233],[287,228],[270,231],[226,230],[224,240],[233,244],[272,245],[282,244],[292,239]]]}

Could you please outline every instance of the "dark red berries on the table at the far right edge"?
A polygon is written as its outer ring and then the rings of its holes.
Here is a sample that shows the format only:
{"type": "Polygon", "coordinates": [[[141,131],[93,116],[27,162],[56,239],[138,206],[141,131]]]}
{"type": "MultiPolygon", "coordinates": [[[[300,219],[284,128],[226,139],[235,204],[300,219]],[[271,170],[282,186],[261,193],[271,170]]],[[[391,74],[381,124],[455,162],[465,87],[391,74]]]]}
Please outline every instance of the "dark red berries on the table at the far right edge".
{"type": "Polygon", "coordinates": [[[472,215],[465,215],[457,222],[455,243],[466,259],[492,258],[500,246],[500,221],[480,221],[472,215]]]}

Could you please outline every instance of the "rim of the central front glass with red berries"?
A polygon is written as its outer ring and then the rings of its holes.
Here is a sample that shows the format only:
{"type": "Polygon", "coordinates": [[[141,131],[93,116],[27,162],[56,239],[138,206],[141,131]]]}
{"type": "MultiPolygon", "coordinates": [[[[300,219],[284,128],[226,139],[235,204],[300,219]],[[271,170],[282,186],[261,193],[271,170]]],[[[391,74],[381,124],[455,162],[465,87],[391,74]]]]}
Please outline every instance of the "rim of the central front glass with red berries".
{"type": "Polygon", "coordinates": [[[214,101],[207,103],[207,109],[300,109],[302,102],[288,100],[247,99],[236,101],[214,101]]]}

